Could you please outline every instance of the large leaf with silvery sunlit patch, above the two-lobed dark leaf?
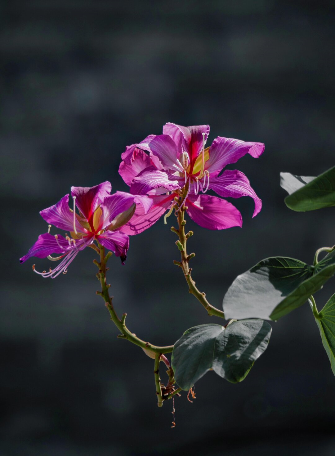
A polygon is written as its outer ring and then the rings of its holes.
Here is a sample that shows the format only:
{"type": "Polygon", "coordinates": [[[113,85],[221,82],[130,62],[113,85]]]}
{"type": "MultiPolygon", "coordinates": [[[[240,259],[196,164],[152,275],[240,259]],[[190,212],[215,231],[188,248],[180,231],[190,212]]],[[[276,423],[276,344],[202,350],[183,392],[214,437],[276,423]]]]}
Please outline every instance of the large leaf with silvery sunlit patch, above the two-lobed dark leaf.
{"type": "Polygon", "coordinates": [[[315,267],[288,257],[263,259],[230,285],[225,317],[277,320],[302,306],[334,273],[335,250],[315,267]]]}

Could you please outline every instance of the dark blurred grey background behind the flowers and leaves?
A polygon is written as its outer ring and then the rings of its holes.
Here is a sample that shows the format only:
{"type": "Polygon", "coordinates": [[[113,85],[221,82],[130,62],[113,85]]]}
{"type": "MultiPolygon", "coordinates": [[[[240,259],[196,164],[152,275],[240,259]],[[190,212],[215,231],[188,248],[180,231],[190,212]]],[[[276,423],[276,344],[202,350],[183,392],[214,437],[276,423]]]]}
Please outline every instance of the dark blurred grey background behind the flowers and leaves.
{"type": "MultiPolygon", "coordinates": [[[[126,145],[168,121],[266,145],[230,169],[263,200],[230,200],[243,228],[188,221],[194,280],[220,308],[236,275],[333,245],[334,211],[295,213],[279,172],[334,165],[334,1],[31,0],[0,4],[2,303],[0,454],[334,455],[335,378],[308,304],[277,323],[245,381],[210,372],[197,399],[157,408],[153,361],[117,330],[95,290],[94,252],[43,280],[20,265],[47,225],[39,211],[71,185],[118,175],[126,145]]],[[[171,220],[171,219],[170,219],[171,220]]],[[[206,322],[189,295],[175,235],[160,220],[110,260],[111,294],[139,337],[175,342],[206,322]]],[[[35,262],[35,261],[34,261],[35,262]]],[[[36,260],[39,270],[47,260],[36,260]]],[[[315,299],[322,308],[330,280],[315,299]]],[[[162,366],[161,377],[166,381],[162,366]]]]}

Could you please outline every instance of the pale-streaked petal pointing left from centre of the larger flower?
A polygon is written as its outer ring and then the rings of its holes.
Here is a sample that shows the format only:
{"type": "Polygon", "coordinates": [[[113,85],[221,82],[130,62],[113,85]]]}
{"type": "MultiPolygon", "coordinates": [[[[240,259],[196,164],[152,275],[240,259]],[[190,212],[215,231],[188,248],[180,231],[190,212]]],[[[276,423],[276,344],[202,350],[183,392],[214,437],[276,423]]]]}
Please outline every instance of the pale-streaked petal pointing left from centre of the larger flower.
{"type": "Polygon", "coordinates": [[[184,182],[184,179],[179,179],[166,171],[160,171],[150,166],[141,171],[131,182],[130,192],[133,195],[145,195],[151,190],[161,187],[165,188],[166,192],[177,190],[181,187],[179,181],[184,182]]]}

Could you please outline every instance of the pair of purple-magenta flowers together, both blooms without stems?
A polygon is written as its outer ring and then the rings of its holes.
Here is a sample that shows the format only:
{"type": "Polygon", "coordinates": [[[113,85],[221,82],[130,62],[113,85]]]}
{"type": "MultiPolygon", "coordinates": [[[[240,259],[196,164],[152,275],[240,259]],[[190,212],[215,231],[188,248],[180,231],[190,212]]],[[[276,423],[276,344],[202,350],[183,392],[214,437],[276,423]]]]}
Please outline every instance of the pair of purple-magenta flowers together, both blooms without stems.
{"type": "Polygon", "coordinates": [[[206,193],[213,190],[220,197],[250,196],[255,202],[255,216],[262,202],[248,178],[241,171],[221,171],[247,153],[259,157],[264,144],[218,136],[206,148],[208,135],[209,125],[183,127],[167,123],[162,135],[149,135],[140,143],[127,146],[121,155],[119,173],[130,193],[110,195],[108,181],[95,187],[71,187],[73,208],[69,207],[67,194],[57,204],[42,210],[41,216],[49,223],[49,229],[20,261],[32,256],[60,261],[48,272],[37,272],[33,266],[37,274],[55,278],[66,273],[80,250],[94,247],[97,241],[124,264],[128,236],[141,233],[168,211],[166,223],[176,201],[178,210],[184,206],[189,217],[204,228],[241,226],[241,213],[235,206],[206,193]],[[52,235],[52,225],[68,233],[65,237],[52,235]],[[52,254],[59,256],[55,258],[52,254]]]}

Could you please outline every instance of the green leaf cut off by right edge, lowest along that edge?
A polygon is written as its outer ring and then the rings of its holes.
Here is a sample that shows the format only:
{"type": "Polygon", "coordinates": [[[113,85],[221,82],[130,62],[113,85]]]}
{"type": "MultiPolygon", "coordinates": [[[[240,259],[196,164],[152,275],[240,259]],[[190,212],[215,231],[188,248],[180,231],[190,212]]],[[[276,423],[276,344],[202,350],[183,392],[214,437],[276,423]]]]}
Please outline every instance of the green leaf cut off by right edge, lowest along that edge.
{"type": "Polygon", "coordinates": [[[319,318],[315,318],[319,327],[322,344],[330,360],[330,367],[335,375],[335,294],[332,295],[319,318]]]}

